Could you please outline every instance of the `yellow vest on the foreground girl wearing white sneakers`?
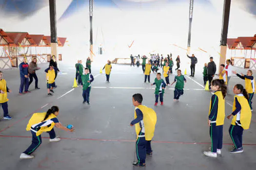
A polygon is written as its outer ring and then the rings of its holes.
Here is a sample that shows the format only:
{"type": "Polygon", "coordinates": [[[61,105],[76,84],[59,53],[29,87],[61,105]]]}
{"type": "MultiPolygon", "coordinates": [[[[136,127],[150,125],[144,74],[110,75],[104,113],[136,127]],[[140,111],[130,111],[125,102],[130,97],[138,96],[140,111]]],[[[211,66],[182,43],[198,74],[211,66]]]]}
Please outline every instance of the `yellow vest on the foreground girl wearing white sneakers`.
{"type": "MultiPolygon", "coordinates": [[[[223,99],[223,95],[221,91],[216,91],[214,93],[218,97],[218,110],[217,110],[217,119],[216,119],[216,126],[223,125],[224,119],[225,119],[225,99],[223,99]]],[[[209,108],[209,115],[211,113],[211,103],[210,102],[210,108],[209,108]]]]}

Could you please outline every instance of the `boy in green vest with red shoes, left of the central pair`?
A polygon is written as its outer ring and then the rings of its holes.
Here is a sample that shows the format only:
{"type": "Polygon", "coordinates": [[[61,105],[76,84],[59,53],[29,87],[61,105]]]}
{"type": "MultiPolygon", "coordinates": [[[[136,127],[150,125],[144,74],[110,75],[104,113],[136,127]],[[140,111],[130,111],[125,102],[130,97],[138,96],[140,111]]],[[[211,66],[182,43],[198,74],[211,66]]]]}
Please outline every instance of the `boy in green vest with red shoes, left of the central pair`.
{"type": "Polygon", "coordinates": [[[166,84],[164,83],[163,79],[161,79],[161,73],[158,72],[157,78],[155,78],[155,82],[151,85],[156,85],[155,89],[155,96],[156,96],[156,102],[155,106],[158,105],[158,96],[160,97],[161,105],[163,105],[163,94],[164,94],[164,88],[166,84]]]}

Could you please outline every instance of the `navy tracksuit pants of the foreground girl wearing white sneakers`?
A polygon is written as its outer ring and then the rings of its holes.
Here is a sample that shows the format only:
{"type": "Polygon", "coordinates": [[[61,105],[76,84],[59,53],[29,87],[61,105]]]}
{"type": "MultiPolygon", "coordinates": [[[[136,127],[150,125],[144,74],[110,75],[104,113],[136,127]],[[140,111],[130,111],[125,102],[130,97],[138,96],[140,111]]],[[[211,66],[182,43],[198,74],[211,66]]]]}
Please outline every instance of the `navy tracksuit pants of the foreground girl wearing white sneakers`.
{"type": "Polygon", "coordinates": [[[222,149],[223,125],[216,126],[216,123],[211,123],[210,137],[212,140],[211,152],[217,153],[217,149],[222,149]]]}

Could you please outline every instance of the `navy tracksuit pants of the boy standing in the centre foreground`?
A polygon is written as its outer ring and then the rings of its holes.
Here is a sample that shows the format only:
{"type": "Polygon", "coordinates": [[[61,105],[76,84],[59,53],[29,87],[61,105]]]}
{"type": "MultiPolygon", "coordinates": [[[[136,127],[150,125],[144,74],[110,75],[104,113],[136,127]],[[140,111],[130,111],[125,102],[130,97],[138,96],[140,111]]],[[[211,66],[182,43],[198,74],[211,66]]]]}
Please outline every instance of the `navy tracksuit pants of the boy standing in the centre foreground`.
{"type": "Polygon", "coordinates": [[[136,141],[136,155],[139,164],[146,162],[146,153],[152,153],[151,140],[146,140],[145,137],[138,137],[136,141]]]}

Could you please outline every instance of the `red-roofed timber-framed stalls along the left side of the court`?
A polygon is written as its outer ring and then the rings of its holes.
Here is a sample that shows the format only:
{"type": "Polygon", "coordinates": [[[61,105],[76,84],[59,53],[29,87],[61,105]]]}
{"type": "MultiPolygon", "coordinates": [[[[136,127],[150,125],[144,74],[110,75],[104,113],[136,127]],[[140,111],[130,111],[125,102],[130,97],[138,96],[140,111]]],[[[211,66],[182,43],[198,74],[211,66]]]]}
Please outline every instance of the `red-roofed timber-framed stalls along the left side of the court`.
{"type": "MultiPolygon", "coordinates": [[[[58,46],[63,47],[66,38],[58,37],[58,46]]],[[[51,36],[23,32],[4,32],[0,29],[0,69],[17,68],[23,57],[28,63],[33,57],[38,63],[47,63],[51,58],[51,36]]],[[[59,54],[59,60],[62,60],[59,54]]]]}

